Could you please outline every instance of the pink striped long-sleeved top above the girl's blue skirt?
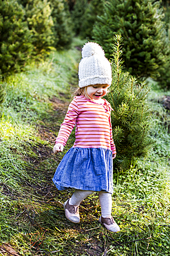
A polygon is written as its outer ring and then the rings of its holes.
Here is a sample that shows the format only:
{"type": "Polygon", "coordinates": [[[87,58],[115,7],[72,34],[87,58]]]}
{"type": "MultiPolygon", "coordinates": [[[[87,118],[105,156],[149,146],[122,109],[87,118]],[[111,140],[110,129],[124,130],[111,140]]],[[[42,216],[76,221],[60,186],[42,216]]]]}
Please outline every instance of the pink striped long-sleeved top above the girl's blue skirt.
{"type": "Polygon", "coordinates": [[[116,154],[111,129],[111,105],[107,100],[104,102],[98,104],[83,95],[74,97],[59,130],[56,143],[65,146],[76,125],[76,140],[73,147],[103,147],[116,154]]]}

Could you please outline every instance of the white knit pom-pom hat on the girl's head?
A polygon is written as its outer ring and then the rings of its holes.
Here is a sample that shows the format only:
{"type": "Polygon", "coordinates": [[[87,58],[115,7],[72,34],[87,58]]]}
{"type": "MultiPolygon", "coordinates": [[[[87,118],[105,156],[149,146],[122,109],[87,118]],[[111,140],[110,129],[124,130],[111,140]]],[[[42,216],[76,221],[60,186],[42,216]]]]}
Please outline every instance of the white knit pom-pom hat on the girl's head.
{"type": "Polygon", "coordinates": [[[91,84],[111,85],[111,64],[99,44],[88,42],[83,46],[78,78],[81,88],[91,84]]]}

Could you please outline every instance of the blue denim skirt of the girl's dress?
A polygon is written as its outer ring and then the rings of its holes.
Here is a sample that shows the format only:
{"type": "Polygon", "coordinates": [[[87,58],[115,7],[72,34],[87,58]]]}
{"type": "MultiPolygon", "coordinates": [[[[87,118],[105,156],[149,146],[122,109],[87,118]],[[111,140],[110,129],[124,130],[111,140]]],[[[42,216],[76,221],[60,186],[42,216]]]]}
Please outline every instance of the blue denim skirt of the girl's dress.
{"type": "Polygon", "coordinates": [[[52,179],[58,190],[106,191],[113,193],[112,152],[103,148],[71,147],[52,179]]]}

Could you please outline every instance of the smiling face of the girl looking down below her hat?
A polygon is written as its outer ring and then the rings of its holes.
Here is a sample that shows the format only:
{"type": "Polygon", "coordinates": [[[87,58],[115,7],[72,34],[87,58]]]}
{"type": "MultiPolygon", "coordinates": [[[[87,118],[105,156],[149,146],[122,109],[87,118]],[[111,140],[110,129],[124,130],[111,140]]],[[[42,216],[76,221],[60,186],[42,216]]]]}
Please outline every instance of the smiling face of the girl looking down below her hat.
{"type": "Polygon", "coordinates": [[[99,100],[101,97],[105,96],[108,87],[108,84],[89,85],[87,86],[87,94],[89,95],[89,98],[99,100]]]}

